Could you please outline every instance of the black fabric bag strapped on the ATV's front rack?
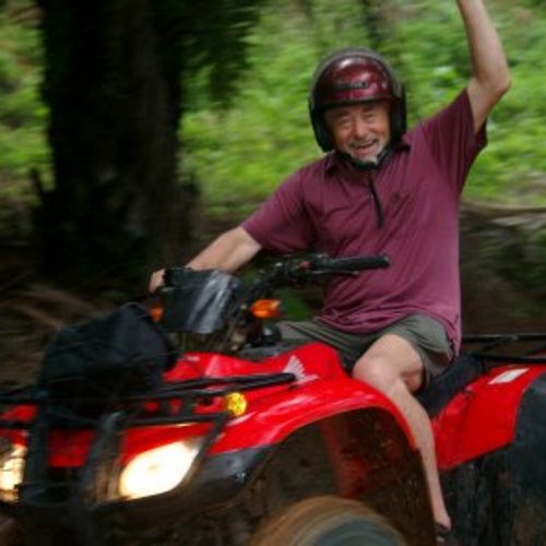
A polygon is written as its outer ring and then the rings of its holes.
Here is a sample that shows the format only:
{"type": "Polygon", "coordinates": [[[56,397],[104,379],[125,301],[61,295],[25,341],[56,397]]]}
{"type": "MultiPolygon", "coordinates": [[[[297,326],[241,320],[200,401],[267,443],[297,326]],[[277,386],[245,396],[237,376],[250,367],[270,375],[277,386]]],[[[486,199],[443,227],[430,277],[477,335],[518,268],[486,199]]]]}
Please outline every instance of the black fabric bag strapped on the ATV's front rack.
{"type": "Polygon", "coordinates": [[[178,349],[140,304],[62,328],[46,349],[38,384],[58,396],[109,397],[161,384],[178,349]]]}

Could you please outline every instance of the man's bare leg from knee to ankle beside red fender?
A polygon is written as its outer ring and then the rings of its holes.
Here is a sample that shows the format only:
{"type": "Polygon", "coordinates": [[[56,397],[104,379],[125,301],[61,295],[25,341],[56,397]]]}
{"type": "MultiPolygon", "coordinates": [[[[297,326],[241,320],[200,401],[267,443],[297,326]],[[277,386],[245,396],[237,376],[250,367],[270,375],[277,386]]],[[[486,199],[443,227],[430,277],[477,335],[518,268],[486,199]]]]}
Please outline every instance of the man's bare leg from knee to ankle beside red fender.
{"type": "Polygon", "coordinates": [[[430,419],[412,394],[423,381],[419,354],[403,337],[383,335],[358,359],[353,377],[385,394],[405,417],[423,456],[435,519],[450,527],[451,520],[438,476],[430,419]]]}

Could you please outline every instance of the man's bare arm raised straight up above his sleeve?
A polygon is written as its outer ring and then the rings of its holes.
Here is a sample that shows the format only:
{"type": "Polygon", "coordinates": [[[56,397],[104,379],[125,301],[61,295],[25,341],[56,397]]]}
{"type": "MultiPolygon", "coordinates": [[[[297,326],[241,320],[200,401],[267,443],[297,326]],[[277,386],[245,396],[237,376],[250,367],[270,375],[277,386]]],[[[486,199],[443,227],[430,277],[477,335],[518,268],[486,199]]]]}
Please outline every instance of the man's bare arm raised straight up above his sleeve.
{"type": "Polygon", "coordinates": [[[510,87],[508,62],[483,0],[456,0],[472,60],[468,96],[476,131],[510,87]]]}

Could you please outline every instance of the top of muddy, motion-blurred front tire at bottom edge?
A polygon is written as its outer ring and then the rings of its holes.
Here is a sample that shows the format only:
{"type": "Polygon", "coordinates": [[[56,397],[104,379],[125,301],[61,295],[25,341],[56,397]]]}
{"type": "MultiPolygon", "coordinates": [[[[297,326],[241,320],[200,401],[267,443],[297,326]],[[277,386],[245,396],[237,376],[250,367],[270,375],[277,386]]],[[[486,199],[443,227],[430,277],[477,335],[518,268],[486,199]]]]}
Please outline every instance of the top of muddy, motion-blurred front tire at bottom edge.
{"type": "Polygon", "coordinates": [[[404,546],[387,520],[356,500],[312,497],[263,521],[250,546],[404,546]]]}

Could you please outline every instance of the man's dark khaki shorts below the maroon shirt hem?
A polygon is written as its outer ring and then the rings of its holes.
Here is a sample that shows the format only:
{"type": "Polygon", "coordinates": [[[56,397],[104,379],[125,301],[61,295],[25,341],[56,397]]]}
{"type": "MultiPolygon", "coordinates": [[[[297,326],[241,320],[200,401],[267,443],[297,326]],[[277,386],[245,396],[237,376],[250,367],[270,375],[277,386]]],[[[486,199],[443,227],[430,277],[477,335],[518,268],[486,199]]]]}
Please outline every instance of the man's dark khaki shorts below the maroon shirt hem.
{"type": "Polygon", "coordinates": [[[379,337],[395,334],[408,341],[419,354],[427,376],[437,376],[453,358],[451,343],[443,325],[425,314],[408,314],[392,324],[367,334],[353,334],[332,328],[318,319],[278,323],[288,343],[320,341],[334,347],[344,369],[351,373],[355,363],[379,337]]]}

